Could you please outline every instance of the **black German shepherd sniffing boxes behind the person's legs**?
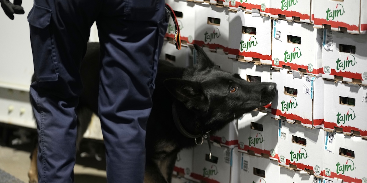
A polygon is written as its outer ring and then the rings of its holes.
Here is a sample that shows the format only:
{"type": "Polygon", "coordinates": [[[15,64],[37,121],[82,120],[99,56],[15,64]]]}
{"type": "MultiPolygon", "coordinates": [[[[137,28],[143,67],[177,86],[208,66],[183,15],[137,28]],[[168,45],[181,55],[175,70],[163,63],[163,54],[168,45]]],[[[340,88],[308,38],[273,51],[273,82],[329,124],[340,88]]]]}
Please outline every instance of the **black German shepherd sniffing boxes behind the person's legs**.
{"type": "MultiPolygon", "coordinates": [[[[204,141],[244,113],[269,104],[275,83],[253,83],[217,67],[198,45],[197,64],[175,67],[160,60],[153,108],[146,127],[145,183],[170,183],[177,153],[204,141]]],[[[92,113],[98,112],[99,43],[88,43],[81,63],[83,93],[76,109],[79,144],[92,113]]],[[[34,79],[34,78],[33,78],[34,79]]],[[[37,148],[34,153],[37,153],[37,148]]],[[[31,156],[30,183],[38,182],[31,156]]]]}

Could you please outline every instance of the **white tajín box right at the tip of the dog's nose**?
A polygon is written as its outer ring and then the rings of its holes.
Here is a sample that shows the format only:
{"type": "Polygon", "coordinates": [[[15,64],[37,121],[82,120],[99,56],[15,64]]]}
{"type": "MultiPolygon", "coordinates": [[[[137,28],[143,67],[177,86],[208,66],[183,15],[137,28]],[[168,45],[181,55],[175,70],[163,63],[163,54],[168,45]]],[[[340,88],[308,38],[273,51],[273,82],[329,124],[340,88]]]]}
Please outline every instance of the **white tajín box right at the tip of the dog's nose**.
{"type": "Polygon", "coordinates": [[[324,125],[324,81],[298,71],[273,71],[278,96],[272,101],[272,117],[301,123],[307,128],[324,125]]]}

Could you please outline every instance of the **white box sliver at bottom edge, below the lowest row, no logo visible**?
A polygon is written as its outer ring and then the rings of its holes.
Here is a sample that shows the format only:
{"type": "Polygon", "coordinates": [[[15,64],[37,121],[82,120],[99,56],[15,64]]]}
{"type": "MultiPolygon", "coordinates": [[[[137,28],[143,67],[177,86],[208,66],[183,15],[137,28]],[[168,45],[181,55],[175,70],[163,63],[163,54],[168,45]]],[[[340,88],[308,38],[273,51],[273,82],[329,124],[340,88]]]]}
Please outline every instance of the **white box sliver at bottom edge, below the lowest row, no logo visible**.
{"type": "Polygon", "coordinates": [[[280,168],[280,182],[282,183],[322,183],[321,178],[309,174],[301,174],[287,168],[280,168]]]}

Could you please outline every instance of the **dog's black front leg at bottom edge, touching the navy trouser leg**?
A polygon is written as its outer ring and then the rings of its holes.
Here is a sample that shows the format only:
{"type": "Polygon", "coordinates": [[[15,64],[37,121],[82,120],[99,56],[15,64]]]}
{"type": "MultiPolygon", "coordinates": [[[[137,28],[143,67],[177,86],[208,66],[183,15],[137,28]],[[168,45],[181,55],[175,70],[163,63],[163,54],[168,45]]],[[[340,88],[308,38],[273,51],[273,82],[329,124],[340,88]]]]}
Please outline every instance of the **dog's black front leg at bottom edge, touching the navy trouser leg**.
{"type": "Polygon", "coordinates": [[[168,183],[157,163],[149,158],[145,162],[144,183],[168,183]]]}

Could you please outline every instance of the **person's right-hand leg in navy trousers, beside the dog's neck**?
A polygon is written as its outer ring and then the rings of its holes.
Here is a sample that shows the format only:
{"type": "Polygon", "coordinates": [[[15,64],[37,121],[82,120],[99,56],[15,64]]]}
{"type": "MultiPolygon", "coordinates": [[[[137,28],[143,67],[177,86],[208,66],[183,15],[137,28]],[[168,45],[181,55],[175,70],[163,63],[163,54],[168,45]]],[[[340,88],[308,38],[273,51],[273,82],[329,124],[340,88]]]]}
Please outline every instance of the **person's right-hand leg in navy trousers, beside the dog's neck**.
{"type": "Polygon", "coordinates": [[[101,43],[99,117],[109,183],[142,183],[145,130],[168,20],[163,0],[107,1],[97,18],[101,43]],[[115,7],[116,11],[109,11],[115,7]]]}

